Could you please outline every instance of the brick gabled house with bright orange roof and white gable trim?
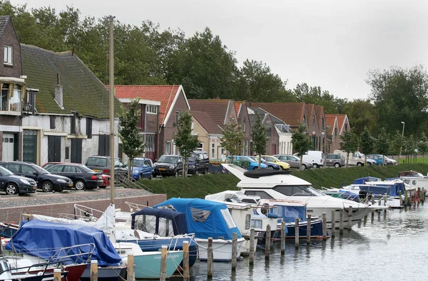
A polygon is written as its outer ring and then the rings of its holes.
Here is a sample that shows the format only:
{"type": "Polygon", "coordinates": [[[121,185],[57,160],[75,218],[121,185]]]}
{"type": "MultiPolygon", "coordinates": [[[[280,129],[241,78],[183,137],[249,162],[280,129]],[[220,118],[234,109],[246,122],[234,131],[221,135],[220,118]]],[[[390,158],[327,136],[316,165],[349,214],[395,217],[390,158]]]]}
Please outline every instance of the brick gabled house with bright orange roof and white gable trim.
{"type": "Polygon", "coordinates": [[[180,112],[190,110],[190,106],[181,85],[155,85],[155,86],[115,86],[116,97],[119,99],[153,100],[161,102],[158,107],[158,137],[153,132],[147,132],[145,142],[148,147],[153,147],[154,158],[158,159],[163,154],[178,154],[175,147],[174,134],[177,132],[177,123],[180,112]]]}

